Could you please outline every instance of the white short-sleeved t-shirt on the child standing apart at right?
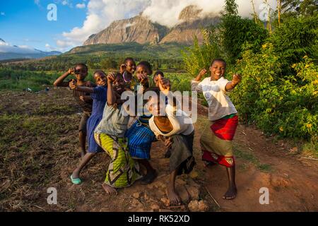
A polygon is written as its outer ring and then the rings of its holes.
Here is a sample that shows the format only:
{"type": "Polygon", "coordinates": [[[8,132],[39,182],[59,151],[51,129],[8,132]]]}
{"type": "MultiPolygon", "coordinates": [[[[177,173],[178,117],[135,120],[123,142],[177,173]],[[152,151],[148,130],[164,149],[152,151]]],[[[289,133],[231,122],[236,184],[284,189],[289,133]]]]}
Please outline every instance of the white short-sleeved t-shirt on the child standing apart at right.
{"type": "Polygon", "coordinates": [[[208,119],[216,121],[229,114],[236,114],[237,110],[233,105],[225,86],[228,79],[221,77],[218,81],[211,81],[211,78],[204,78],[203,81],[191,81],[192,91],[202,92],[208,102],[208,119]]]}

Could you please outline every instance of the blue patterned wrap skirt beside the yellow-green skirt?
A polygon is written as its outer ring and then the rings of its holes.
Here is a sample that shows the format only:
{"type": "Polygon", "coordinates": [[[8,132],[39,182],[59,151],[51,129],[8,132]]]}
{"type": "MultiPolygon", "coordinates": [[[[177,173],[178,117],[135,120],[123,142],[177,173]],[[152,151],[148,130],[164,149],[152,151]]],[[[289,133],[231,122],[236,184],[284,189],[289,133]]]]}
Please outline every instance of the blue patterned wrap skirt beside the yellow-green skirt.
{"type": "Polygon", "coordinates": [[[150,159],[151,143],[155,140],[155,134],[148,126],[136,121],[126,131],[126,138],[128,138],[128,148],[131,157],[136,159],[150,159]]]}

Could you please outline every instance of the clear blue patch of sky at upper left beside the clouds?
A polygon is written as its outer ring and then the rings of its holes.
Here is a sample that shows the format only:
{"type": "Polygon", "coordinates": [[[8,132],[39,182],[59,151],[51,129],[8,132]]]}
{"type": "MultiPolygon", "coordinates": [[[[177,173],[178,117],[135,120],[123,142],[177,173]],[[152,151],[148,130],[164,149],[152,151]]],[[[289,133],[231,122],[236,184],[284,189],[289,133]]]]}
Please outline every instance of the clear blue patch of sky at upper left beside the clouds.
{"type": "Polygon", "coordinates": [[[57,46],[61,34],[74,27],[81,27],[86,18],[87,8],[77,8],[76,4],[86,2],[1,0],[0,38],[11,45],[27,45],[41,50],[64,50],[57,46]],[[57,5],[57,21],[47,20],[47,5],[52,3],[57,5]]]}

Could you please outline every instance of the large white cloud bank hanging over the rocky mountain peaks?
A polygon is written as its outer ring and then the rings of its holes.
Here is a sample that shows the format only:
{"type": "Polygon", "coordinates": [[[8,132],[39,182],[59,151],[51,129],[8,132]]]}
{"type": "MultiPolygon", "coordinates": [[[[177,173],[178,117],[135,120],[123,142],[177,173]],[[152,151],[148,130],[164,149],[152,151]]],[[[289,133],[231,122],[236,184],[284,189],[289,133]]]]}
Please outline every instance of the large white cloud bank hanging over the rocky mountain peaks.
{"type": "MultiPolygon", "coordinates": [[[[65,0],[66,1],[66,0],[65,0]]],[[[247,0],[237,0],[241,16],[252,14],[252,4],[247,0]]],[[[262,0],[255,0],[255,8],[259,13],[259,5],[262,0]]],[[[276,0],[269,0],[269,4],[275,8],[276,0]]],[[[202,8],[203,15],[208,13],[220,13],[223,10],[224,0],[90,0],[88,1],[87,16],[81,28],[73,28],[64,32],[63,39],[57,41],[58,46],[67,48],[81,45],[87,38],[107,28],[114,20],[131,18],[143,12],[154,22],[172,27],[180,21],[179,13],[189,5],[202,8]]]]}

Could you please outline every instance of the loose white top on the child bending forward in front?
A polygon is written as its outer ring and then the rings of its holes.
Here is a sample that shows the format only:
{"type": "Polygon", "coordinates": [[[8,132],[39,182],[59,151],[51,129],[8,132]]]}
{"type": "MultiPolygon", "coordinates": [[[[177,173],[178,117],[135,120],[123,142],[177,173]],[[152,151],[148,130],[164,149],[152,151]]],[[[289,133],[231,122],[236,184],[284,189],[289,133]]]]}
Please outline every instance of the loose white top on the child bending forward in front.
{"type": "Polygon", "coordinates": [[[194,126],[192,119],[189,117],[187,113],[182,111],[181,109],[175,109],[171,105],[167,105],[165,107],[165,113],[170,123],[172,124],[172,131],[170,133],[163,133],[158,129],[155,125],[154,116],[149,119],[149,126],[155,136],[172,136],[175,134],[189,135],[194,131],[194,126]]]}

